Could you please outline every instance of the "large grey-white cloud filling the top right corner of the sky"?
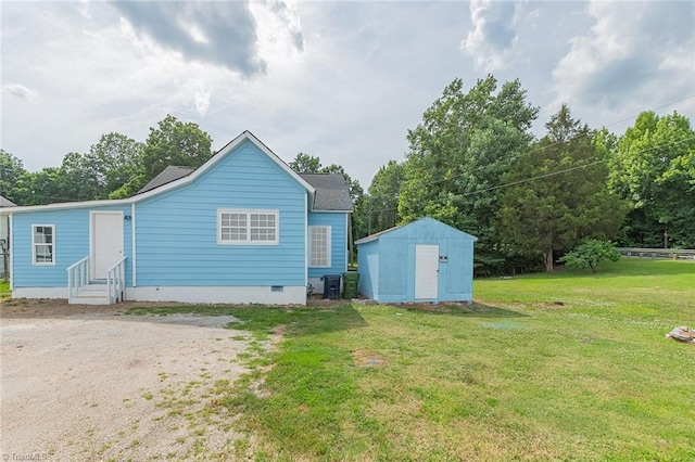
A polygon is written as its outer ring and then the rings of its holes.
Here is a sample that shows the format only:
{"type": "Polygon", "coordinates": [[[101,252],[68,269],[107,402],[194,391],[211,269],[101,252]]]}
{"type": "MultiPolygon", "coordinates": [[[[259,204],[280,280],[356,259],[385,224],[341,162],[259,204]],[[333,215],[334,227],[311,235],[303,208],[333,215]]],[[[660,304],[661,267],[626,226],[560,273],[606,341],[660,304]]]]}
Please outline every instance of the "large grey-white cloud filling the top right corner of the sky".
{"type": "Polygon", "coordinates": [[[594,1],[586,13],[593,26],[570,40],[553,70],[553,105],[620,117],[693,93],[692,4],[594,1]]]}

